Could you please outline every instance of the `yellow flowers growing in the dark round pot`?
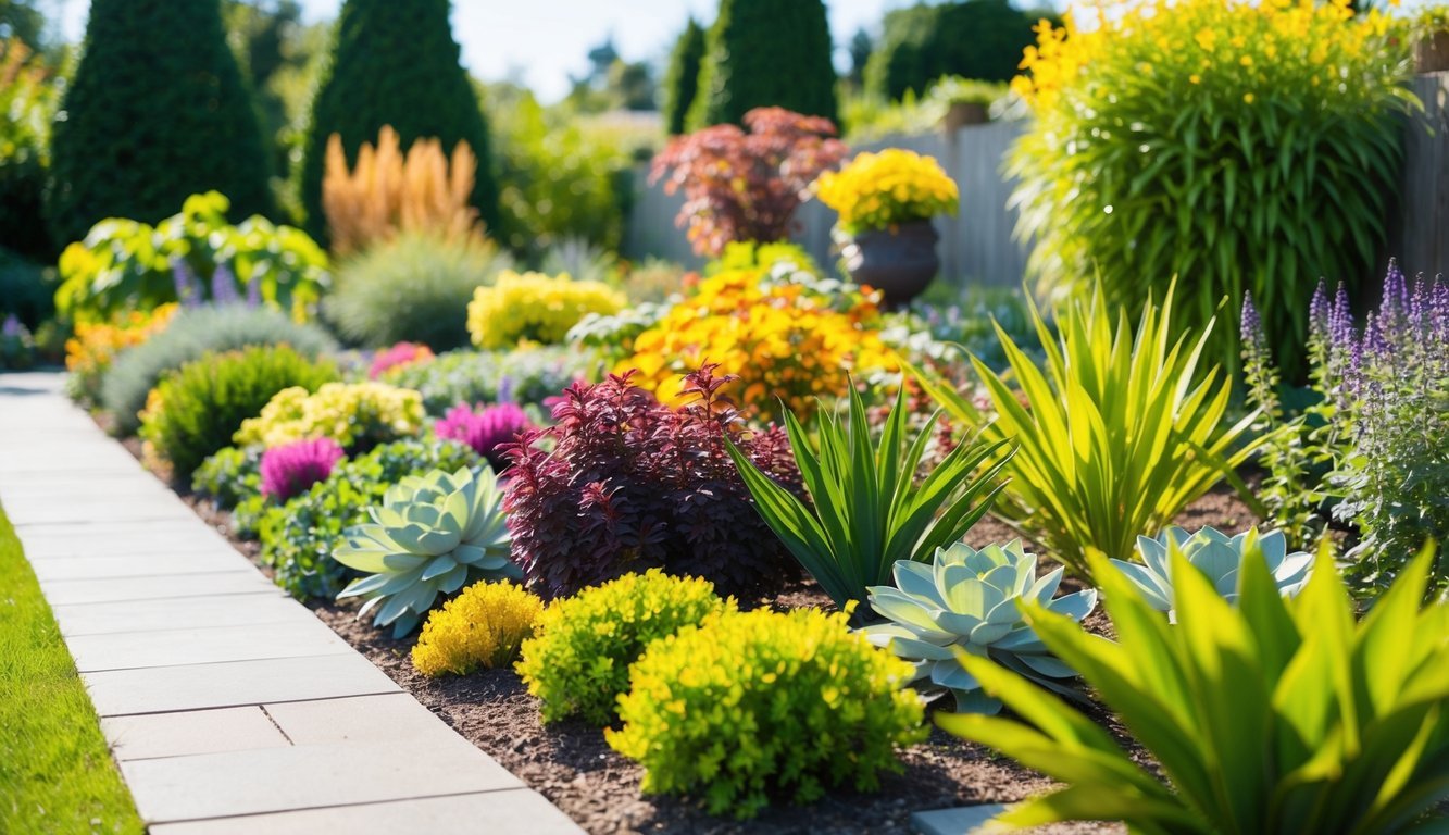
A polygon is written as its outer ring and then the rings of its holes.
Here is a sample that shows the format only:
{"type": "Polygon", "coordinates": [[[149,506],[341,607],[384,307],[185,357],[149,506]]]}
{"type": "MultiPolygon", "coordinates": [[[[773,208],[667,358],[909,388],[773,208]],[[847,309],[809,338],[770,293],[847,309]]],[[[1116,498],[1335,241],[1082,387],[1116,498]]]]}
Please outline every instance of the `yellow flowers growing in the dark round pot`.
{"type": "Polygon", "coordinates": [[[935,158],[901,148],[859,154],[840,171],[822,174],[813,188],[851,235],[955,215],[961,199],[935,158]]]}

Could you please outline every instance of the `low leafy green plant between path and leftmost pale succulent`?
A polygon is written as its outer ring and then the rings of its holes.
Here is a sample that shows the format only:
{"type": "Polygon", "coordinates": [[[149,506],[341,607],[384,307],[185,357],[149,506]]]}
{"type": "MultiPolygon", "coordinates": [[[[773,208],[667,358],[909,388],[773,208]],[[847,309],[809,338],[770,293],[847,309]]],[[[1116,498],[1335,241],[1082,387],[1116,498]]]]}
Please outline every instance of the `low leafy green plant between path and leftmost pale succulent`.
{"type": "Polygon", "coordinates": [[[477,462],[478,457],[464,444],[409,438],[343,461],[325,481],[285,504],[242,507],[256,519],[262,562],[272,568],[277,584],[293,597],[332,599],[359,576],[332,558],[343,542],[342,532],[367,523],[367,509],[381,503],[391,484],[407,475],[454,473],[477,462]]]}

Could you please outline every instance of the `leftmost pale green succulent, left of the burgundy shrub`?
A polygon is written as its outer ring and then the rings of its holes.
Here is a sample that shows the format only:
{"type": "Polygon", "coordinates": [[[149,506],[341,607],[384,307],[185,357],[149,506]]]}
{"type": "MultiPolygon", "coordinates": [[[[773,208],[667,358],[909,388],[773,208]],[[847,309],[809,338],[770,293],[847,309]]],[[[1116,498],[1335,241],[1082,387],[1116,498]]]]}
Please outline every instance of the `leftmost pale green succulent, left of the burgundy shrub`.
{"type": "Polygon", "coordinates": [[[358,616],[377,609],[372,625],[391,625],[394,638],[412,632],[439,594],[523,576],[509,561],[503,493],[487,467],[403,478],[368,515],[372,523],[348,528],[346,544],[332,555],[371,577],[354,580],[338,599],[367,597],[358,616]]]}

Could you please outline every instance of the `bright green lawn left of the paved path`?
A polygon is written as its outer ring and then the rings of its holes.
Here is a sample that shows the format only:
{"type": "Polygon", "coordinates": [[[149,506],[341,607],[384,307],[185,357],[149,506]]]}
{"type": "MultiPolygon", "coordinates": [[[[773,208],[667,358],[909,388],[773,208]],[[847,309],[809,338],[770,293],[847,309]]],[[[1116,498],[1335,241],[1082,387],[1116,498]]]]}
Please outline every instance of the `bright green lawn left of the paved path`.
{"type": "Polygon", "coordinates": [[[4,509],[0,728],[0,832],[145,832],[4,509]]]}

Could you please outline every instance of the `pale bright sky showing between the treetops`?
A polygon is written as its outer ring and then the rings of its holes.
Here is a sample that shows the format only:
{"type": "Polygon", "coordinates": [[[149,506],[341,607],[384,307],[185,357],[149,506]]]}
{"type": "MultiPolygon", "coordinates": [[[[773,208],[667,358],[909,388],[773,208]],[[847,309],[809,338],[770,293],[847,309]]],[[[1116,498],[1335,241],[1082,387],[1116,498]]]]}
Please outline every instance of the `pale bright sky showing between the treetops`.
{"type": "MultiPolygon", "coordinates": [[[[406,3],[407,0],[398,0],[406,3]]],[[[843,51],[859,26],[878,29],[888,9],[913,0],[827,0],[830,33],[843,51]]],[[[48,0],[68,41],[85,32],[88,0],[48,0]]],[[[341,0],[303,0],[310,20],[335,17],[341,0]]],[[[464,64],[480,78],[522,72],[552,101],[568,91],[568,74],[582,74],[585,54],[613,33],[630,61],[661,59],[690,14],[713,20],[717,0],[454,0],[454,35],[464,64]]]]}

